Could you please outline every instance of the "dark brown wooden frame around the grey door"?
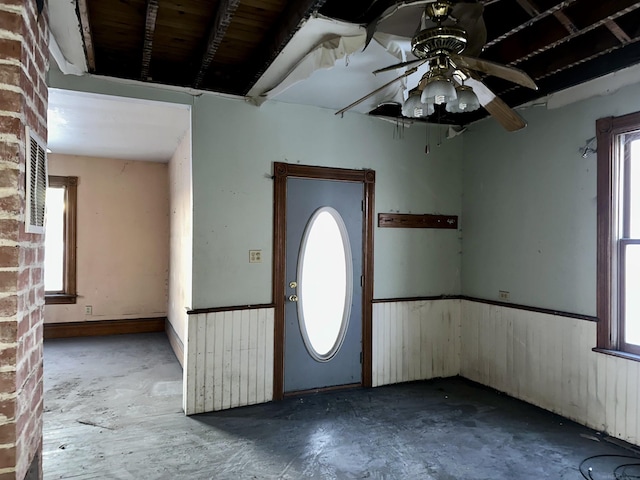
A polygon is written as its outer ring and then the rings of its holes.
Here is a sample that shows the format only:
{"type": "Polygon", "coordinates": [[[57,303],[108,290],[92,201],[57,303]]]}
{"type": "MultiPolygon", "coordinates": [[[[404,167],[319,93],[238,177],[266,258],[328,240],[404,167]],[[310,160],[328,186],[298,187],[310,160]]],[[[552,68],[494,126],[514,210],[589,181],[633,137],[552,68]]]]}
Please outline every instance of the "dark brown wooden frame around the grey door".
{"type": "Polygon", "coordinates": [[[273,399],[284,398],[284,308],[285,259],[287,232],[287,179],[312,178],[363,184],[362,222],[362,386],[372,385],[372,301],[373,301],[373,221],[375,215],[376,172],[370,169],[314,167],[274,162],[273,197],[273,303],[275,306],[273,336],[273,399]]]}

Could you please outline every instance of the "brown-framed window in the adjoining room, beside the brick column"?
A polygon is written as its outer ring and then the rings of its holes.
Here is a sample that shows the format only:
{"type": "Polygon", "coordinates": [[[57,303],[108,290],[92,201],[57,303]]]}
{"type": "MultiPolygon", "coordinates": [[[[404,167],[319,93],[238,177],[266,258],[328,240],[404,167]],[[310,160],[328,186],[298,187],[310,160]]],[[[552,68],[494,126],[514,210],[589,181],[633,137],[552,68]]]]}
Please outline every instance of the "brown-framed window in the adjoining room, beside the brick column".
{"type": "Polygon", "coordinates": [[[46,304],[76,303],[78,177],[49,176],[44,243],[46,304]]]}

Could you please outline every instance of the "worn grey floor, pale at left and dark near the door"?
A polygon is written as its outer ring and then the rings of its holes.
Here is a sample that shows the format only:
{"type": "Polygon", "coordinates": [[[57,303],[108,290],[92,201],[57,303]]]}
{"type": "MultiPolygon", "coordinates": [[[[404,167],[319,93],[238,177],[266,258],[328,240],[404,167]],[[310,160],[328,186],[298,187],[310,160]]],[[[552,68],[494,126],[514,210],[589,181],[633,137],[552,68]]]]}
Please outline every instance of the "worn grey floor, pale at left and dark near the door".
{"type": "MultiPolygon", "coordinates": [[[[586,457],[630,454],[459,378],[187,418],[182,371],[162,334],[48,340],[44,351],[48,480],[563,480],[588,478],[578,470],[586,457]]],[[[585,468],[613,479],[623,463],[585,468]]]]}

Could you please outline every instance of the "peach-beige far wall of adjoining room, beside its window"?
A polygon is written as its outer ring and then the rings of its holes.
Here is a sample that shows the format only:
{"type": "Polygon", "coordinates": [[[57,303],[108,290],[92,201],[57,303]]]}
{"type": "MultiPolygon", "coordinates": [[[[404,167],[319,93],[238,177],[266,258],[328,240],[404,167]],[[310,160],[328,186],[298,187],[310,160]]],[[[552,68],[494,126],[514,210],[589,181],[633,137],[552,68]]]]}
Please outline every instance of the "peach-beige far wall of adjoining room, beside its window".
{"type": "Polygon", "coordinates": [[[51,154],[49,174],[78,177],[78,302],[48,305],[45,323],[165,316],[167,164],[51,154]]]}

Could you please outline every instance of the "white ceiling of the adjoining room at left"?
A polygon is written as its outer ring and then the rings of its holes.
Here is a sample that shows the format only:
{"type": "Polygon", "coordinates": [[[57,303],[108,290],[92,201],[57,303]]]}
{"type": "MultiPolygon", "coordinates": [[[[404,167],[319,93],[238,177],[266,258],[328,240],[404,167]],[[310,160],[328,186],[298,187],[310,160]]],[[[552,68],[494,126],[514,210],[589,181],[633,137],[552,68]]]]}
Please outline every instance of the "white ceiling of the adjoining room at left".
{"type": "Polygon", "coordinates": [[[52,153],[168,162],[190,122],[188,105],[49,89],[52,153]]]}

